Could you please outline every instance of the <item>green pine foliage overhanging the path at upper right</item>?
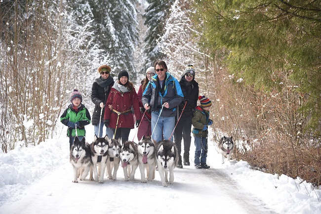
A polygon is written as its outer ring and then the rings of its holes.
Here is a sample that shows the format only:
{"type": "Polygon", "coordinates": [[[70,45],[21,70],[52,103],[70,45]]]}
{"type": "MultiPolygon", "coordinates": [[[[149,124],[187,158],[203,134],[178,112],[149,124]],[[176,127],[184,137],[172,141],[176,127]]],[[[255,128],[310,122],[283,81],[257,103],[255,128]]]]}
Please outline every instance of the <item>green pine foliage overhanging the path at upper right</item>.
{"type": "MultiPolygon", "coordinates": [[[[301,111],[321,134],[321,4],[308,0],[197,0],[206,38],[227,48],[231,73],[256,88],[303,93],[301,111]],[[289,86],[288,85],[288,86],[289,86]]],[[[213,49],[214,50],[214,49],[213,49]]]]}

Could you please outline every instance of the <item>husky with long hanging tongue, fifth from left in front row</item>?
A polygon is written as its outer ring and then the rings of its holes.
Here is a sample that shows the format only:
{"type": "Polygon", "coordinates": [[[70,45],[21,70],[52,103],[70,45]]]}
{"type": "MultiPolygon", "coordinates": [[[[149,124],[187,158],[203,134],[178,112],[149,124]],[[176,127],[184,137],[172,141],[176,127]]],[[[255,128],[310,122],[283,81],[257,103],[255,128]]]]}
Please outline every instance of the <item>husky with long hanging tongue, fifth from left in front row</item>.
{"type": "Polygon", "coordinates": [[[138,142],[138,163],[142,183],[146,183],[146,179],[148,181],[155,179],[156,147],[157,143],[151,136],[143,136],[143,139],[138,142]],[[146,178],[144,168],[147,172],[146,178]]]}

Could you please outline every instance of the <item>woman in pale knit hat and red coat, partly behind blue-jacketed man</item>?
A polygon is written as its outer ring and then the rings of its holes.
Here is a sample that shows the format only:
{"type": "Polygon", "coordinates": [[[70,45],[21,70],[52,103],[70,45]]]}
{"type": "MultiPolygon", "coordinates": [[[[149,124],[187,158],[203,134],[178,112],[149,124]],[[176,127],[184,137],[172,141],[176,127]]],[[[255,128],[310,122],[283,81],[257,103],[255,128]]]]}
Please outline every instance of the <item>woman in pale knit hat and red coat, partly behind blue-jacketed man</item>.
{"type": "Polygon", "coordinates": [[[150,110],[147,111],[144,115],[145,112],[145,108],[143,106],[142,103],[142,96],[143,96],[143,92],[148,84],[148,82],[151,80],[151,78],[155,75],[155,71],[154,71],[154,67],[149,67],[146,70],[146,77],[144,80],[142,80],[141,82],[141,86],[139,86],[138,92],[137,92],[137,98],[139,101],[139,107],[141,110],[141,118],[142,118],[142,122],[140,123],[140,126],[138,128],[138,132],[137,132],[137,138],[138,140],[141,140],[143,138],[143,136],[151,136],[152,135],[152,125],[151,125],[151,112],[150,110]],[[144,115],[144,117],[143,117],[144,115]]]}

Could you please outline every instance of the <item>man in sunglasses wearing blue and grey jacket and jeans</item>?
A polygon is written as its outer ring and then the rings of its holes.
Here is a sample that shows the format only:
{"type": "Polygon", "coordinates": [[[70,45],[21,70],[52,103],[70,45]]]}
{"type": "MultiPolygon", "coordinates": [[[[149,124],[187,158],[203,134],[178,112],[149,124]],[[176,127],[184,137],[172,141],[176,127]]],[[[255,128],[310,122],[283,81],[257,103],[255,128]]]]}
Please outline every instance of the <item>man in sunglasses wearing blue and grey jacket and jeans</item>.
{"type": "Polygon", "coordinates": [[[175,128],[176,108],[184,95],[177,79],[167,72],[164,61],[156,61],[154,68],[156,75],[143,92],[142,103],[145,109],[152,108],[152,138],[156,142],[173,141],[171,133],[175,128]]]}

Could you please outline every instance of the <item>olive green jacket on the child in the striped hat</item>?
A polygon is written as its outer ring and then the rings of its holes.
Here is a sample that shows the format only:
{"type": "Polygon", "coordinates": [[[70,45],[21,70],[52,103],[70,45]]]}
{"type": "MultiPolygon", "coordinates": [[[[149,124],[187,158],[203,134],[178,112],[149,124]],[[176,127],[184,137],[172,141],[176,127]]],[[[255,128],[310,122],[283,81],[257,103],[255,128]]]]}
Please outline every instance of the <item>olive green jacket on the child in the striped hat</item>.
{"type": "Polygon", "coordinates": [[[201,106],[197,106],[193,113],[192,125],[193,125],[193,136],[207,137],[208,130],[204,130],[204,126],[207,126],[209,119],[209,111],[203,110],[201,106]]]}

